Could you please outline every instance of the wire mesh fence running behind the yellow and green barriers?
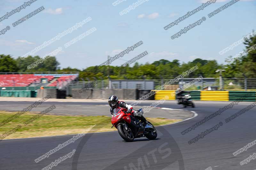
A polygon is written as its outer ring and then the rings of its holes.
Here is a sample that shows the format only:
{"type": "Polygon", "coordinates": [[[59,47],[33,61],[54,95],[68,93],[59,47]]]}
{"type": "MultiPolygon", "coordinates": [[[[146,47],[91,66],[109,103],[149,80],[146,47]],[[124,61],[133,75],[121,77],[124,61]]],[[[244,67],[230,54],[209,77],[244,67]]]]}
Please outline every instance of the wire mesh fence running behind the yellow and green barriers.
{"type": "MultiPolygon", "coordinates": [[[[166,86],[165,90],[177,90],[177,88],[181,88],[182,86],[190,83],[195,78],[198,78],[200,75],[190,75],[183,79],[178,79],[177,82],[172,83],[171,85],[166,86]]],[[[149,90],[157,89],[158,87],[164,85],[169,82],[171,79],[176,78],[177,76],[155,76],[150,78],[143,79],[140,77],[132,76],[127,79],[122,80],[111,80],[111,79],[103,79],[102,81],[97,81],[97,78],[90,78],[88,81],[78,81],[76,83],[71,83],[67,86],[67,96],[72,96],[72,89],[82,89],[84,87],[90,87],[94,90],[98,89],[120,89],[127,88],[127,86],[122,86],[120,82],[134,82],[135,85],[133,88],[137,89],[146,89],[150,87],[149,90]],[[94,79],[94,81],[92,81],[94,79]],[[97,81],[97,83],[95,83],[97,81]],[[109,83],[111,81],[111,83],[109,83]],[[119,82],[119,83],[116,83],[119,82]],[[148,86],[149,82],[153,82],[153,86],[148,86]],[[90,86],[91,84],[91,86],[90,86]],[[93,85],[92,85],[93,84],[93,85]],[[120,85],[119,85],[120,84],[120,85]],[[110,87],[111,85],[111,87],[110,87]]],[[[230,75],[206,75],[203,76],[203,79],[199,82],[196,82],[194,85],[188,87],[186,90],[229,90],[229,91],[256,91],[256,78],[252,78],[253,75],[238,75],[238,76],[230,76],[230,75]],[[248,78],[249,77],[249,78],[248,78]]],[[[126,83],[127,84],[127,83],[126,83]]],[[[130,86],[128,86],[130,87],[130,86]]]]}

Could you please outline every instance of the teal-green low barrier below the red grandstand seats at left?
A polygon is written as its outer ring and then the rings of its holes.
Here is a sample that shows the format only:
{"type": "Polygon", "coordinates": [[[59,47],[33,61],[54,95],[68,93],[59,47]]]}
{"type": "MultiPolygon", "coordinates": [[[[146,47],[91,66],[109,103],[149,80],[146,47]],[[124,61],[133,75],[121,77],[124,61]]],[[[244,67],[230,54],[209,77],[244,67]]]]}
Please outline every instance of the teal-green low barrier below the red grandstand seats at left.
{"type": "Polygon", "coordinates": [[[1,97],[36,97],[34,90],[1,90],[1,97]]]}

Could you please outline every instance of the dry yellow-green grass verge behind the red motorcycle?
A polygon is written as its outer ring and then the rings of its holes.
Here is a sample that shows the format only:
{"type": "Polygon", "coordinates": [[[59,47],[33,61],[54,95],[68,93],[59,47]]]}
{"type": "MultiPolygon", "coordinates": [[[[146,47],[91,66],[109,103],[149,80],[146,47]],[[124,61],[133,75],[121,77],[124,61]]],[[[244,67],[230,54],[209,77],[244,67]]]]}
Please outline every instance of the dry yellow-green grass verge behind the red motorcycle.
{"type": "MultiPolygon", "coordinates": [[[[0,123],[16,113],[0,112],[0,123]]],[[[36,116],[34,113],[25,113],[0,127],[0,140],[24,137],[44,137],[53,135],[68,135],[83,133],[86,129],[94,126],[89,132],[114,131],[111,129],[111,117],[108,116],[66,116],[66,115],[43,115],[33,122],[25,125],[24,122],[36,116]],[[21,125],[14,133],[8,133],[13,128],[21,125]],[[4,135],[5,134],[5,135],[4,135]],[[6,136],[6,137],[5,137],[6,136]],[[4,137],[4,138],[3,138],[4,137]]],[[[147,118],[154,126],[179,122],[179,119],[147,118]]]]}

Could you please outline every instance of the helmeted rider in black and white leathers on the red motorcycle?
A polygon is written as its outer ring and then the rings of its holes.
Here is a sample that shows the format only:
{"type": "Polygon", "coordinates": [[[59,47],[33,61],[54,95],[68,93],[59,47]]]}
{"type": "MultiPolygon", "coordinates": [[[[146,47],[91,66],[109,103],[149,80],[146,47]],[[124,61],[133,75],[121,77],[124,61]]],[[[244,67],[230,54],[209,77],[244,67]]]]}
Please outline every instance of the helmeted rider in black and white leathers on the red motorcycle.
{"type": "Polygon", "coordinates": [[[115,95],[112,95],[108,98],[108,104],[111,107],[110,113],[112,116],[114,115],[114,109],[125,108],[125,109],[127,109],[126,113],[131,113],[131,115],[133,115],[135,118],[139,119],[143,123],[144,126],[146,126],[146,124],[148,123],[148,121],[142,114],[138,114],[137,112],[134,112],[132,110],[132,106],[127,105],[124,101],[118,101],[118,98],[115,95]]]}

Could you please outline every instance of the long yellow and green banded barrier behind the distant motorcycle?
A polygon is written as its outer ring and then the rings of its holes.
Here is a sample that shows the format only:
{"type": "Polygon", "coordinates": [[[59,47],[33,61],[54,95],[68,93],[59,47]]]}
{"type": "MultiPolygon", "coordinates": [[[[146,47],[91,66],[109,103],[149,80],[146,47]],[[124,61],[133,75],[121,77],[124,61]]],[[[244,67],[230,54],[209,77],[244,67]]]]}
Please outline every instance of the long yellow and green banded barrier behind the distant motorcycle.
{"type": "MultiPolygon", "coordinates": [[[[155,91],[155,90],[152,90],[155,91]]],[[[158,90],[155,91],[155,100],[176,100],[174,90],[158,90]]],[[[186,95],[188,93],[183,93],[186,95]]],[[[256,101],[256,92],[240,92],[240,91],[190,91],[192,100],[201,101],[256,101]]]]}

